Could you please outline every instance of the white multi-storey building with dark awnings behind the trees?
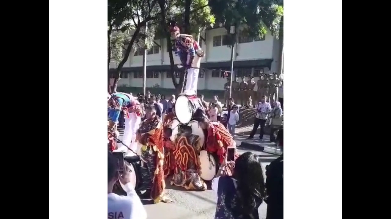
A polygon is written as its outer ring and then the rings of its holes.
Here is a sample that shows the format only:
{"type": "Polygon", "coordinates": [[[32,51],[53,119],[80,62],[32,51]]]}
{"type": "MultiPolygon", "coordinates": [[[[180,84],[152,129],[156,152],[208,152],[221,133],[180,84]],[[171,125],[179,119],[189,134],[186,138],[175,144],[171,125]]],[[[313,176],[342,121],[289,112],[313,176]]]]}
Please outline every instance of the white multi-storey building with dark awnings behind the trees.
{"type": "MultiPolygon", "coordinates": [[[[201,36],[200,46],[206,55],[201,61],[198,79],[198,90],[224,90],[226,79],[222,78],[221,71],[231,71],[231,48],[225,40],[227,31],[225,28],[207,30],[201,36]],[[215,69],[215,71],[210,70],[215,69]],[[217,71],[216,71],[217,70],[217,71]]],[[[260,73],[278,71],[280,60],[280,42],[270,33],[263,39],[253,39],[238,34],[235,45],[234,71],[237,76],[254,76],[258,80],[260,73]]],[[[124,65],[118,87],[142,87],[143,86],[143,49],[132,51],[124,65]]],[[[180,64],[179,57],[174,55],[175,64],[180,64]]],[[[111,63],[111,68],[117,65],[111,63]]],[[[155,40],[154,46],[147,55],[147,80],[146,87],[174,88],[172,75],[169,74],[170,58],[165,39],[155,40]]]]}

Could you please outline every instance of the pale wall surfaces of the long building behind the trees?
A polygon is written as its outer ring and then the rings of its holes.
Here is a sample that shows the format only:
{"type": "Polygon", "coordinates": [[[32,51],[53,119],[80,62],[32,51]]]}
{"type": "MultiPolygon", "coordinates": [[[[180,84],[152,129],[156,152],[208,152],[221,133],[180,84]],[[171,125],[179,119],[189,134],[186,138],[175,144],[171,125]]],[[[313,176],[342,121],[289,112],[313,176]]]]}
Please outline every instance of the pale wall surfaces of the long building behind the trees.
{"type": "MultiPolygon", "coordinates": [[[[202,36],[206,42],[201,41],[201,48],[206,52],[206,56],[202,60],[205,62],[227,62],[230,61],[231,48],[224,45],[224,35],[227,31],[224,28],[216,28],[208,30],[204,36],[202,36]],[[220,37],[219,37],[220,36],[220,37]],[[220,39],[220,42],[219,40],[220,39]],[[215,43],[213,43],[215,41],[215,43]]],[[[240,28],[238,35],[238,43],[236,45],[236,56],[235,61],[241,60],[258,60],[258,59],[271,59],[273,62],[271,69],[267,67],[262,68],[263,72],[271,73],[278,69],[278,46],[279,42],[271,34],[267,34],[264,40],[242,42],[240,37],[240,28]]],[[[165,39],[156,40],[160,44],[161,48],[156,46],[154,48],[154,54],[147,55],[147,66],[150,65],[170,65],[169,53],[167,52],[167,42],[165,39]]],[[[138,51],[132,51],[129,59],[127,60],[124,67],[141,67],[142,64],[142,53],[138,55],[138,51]]],[[[180,64],[179,58],[174,55],[175,64],[180,64]]],[[[117,67],[117,64],[112,62],[111,67],[117,67]]],[[[234,66],[235,68],[235,66],[234,66]]],[[[246,74],[251,72],[251,75],[255,75],[256,68],[249,67],[246,74]]],[[[148,72],[147,72],[148,73],[148,72]]],[[[138,74],[142,72],[123,72],[118,86],[122,87],[143,87],[143,78],[140,78],[138,74]],[[136,75],[136,76],[135,76],[136,75]]],[[[172,79],[167,77],[167,72],[149,72],[149,76],[146,79],[146,87],[161,87],[161,88],[174,88],[172,79]],[[154,74],[156,73],[156,74],[154,74]],[[153,74],[153,75],[151,75],[153,74]]],[[[246,75],[247,76],[247,75],[246,75]]],[[[255,81],[259,78],[255,77],[255,81]]],[[[221,78],[217,75],[212,75],[211,70],[206,70],[200,73],[198,80],[198,90],[224,90],[224,84],[226,78],[221,78]]],[[[239,79],[240,81],[240,79],[239,79]]]]}

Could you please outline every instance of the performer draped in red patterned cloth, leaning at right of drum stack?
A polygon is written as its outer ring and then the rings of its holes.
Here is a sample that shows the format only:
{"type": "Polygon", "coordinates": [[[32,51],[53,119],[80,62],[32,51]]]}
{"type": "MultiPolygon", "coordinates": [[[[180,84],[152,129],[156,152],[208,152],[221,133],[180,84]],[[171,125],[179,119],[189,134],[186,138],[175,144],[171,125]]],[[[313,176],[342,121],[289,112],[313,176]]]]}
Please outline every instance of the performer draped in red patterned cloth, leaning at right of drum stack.
{"type": "MultiPolygon", "coordinates": [[[[239,157],[236,150],[236,143],[233,140],[232,135],[226,127],[220,122],[210,121],[208,118],[203,117],[199,120],[200,127],[206,129],[208,134],[206,136],[206,150],[211,153],[216,153],[219,157],[219,164],[222,164],[227,154],[228,146],[235,147],[234,161],[239,157]]],[[[231,176],[234,166],[226,168],[226,175],[231,176]]]]}

